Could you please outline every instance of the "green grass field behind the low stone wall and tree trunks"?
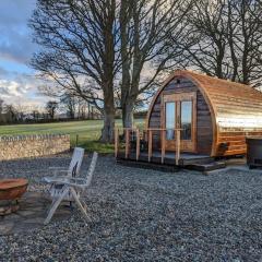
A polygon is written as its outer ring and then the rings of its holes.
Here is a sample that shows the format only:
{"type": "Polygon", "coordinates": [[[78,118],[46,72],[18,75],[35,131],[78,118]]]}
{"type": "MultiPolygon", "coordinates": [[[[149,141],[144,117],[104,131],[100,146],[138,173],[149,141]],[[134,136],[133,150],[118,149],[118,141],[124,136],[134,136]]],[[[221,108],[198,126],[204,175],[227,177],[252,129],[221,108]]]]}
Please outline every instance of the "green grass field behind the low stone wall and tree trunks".
{"type": "MultiPolygon", "coordinates": [[[[135,124],[142,126],[144,120],[136,119],[135,124]]],[[[117,126],[121,127],[121,120],[117,120],[117,126]]],[[[71,146],[76,144],[85,147],[87,151],[97,151],[99,153],[112,153],[112,144],[103,144],[98,142],[103,120],[86,120],[56,123],[34,123],[34,124],[12,124],[0,126],[0,135],[21,135],[21,134],[47,134],[47,133],[67,133],[70,134],[71,146]]]]}

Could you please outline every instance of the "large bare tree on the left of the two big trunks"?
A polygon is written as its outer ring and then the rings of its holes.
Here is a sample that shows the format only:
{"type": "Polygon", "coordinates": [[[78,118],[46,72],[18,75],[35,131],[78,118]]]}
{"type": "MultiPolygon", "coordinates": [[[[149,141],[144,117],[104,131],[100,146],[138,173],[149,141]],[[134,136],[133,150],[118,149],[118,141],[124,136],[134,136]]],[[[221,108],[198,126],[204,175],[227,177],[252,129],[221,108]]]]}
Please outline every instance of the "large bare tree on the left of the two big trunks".
{"type": "Polygon", "coordinates": [[[102,141],[114,139],[116,8],[116,0],[38,0],[29,21],[35,41],[43,46],[32,66],[72,94],[96,106],[98,100],[104,112],[102,141]]]}

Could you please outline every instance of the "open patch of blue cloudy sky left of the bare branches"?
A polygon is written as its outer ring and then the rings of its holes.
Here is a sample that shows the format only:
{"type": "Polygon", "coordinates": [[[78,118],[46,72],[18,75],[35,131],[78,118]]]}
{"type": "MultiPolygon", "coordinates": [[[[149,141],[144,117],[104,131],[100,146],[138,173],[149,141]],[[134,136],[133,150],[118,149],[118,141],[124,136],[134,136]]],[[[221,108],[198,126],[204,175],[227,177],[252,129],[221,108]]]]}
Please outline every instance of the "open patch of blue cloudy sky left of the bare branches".
{"type": "Polygon", "coordinates": [[[35,5],[36,0],[0,0],[0,98],[28,110],[47,100],[38,93],[41,81],[29,67],[38,48],[27,26],[35,5]]]}

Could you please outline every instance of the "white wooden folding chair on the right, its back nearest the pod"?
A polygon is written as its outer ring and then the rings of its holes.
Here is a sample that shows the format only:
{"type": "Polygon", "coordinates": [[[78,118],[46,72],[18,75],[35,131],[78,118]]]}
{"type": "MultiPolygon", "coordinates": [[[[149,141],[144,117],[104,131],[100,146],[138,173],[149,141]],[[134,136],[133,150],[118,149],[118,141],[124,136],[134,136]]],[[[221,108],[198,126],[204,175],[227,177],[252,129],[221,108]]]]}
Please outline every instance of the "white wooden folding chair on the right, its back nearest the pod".
{"type": "Polygon", "coordinates": [[[48,213],[47,218],[44,224],[48,224],[53,216],[56,210],[61,204],[62,201],[74,201],[79,206],[80,211],[83,213],[84,217],[90,219],[86,213],[86,205],[84,201],[81,200],[81,195],[85,192],[86,188],[91,184],[92,177],[95,170],[98,154],[95,152],[85,178],[73,178],[73,177],[60,177],[59,180],[52,181],[55,184],[62,184],[62,187],[52,194],[52,203],[48,213]]]}

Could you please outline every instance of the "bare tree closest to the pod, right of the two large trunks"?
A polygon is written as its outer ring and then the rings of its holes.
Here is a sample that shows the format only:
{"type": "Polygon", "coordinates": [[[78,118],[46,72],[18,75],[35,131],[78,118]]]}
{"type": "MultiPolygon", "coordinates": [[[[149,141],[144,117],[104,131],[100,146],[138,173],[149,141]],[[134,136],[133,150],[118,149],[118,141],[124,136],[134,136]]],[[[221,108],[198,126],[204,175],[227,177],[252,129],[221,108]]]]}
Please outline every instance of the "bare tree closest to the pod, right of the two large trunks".
{"type": "MultiPolygon", "coordinates": [[[[183,43],[183,17],[190,7],[191,1],[184,0],[121,1],[120,100],[123,127],[132,127],[133,109],[141,94],[158,85],[163,73],[178,66],[182,50],[176,41],[183,43]]],[[[183,44],[190,46],[191,41],[183,44]]]]}

